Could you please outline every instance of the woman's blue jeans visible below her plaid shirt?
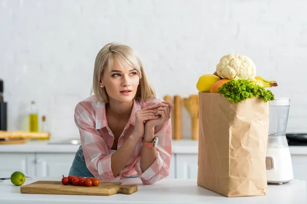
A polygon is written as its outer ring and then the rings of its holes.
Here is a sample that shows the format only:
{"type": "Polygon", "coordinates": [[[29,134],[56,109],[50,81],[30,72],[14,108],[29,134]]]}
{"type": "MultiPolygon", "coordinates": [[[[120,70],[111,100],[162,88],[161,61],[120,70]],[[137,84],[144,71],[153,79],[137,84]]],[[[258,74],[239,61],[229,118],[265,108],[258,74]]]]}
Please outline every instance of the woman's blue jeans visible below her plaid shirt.
{"type": "MultiPolygon", "coordinates": [[[[80,145],[79,149],[76,152],[75,159],[73,161],[73,165],[69,171],[68,175],[76,175],[82,177],[95,177],[89,169],[86,167],[85,159],[83,155],[82,146],[80,145]]],[[[125,176],[126,178],[136,178],[138,176],[125,176]]]]}

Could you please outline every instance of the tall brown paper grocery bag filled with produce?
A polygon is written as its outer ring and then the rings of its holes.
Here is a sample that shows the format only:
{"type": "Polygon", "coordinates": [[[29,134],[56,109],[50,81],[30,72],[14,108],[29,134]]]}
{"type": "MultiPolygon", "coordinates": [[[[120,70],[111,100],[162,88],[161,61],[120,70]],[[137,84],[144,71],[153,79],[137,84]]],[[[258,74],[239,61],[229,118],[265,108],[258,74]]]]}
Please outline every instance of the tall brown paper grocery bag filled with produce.
{"type": "Polygon", "coordinates": [[[267,194],[269,103],[199,93],[198,181],[227,197],[267,194]]]}

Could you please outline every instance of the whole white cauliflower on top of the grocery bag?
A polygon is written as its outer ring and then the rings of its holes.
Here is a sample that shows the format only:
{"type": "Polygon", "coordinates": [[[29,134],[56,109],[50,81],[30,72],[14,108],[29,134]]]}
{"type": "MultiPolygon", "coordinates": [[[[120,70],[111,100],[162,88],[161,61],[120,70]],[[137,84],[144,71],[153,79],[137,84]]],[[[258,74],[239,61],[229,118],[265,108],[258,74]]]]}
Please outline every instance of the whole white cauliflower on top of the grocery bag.
{"type": "Polygon", "coordinates": [[[216,65],[216,73],[222,79],[243,79],[256,81],[256,66],[246,56],[240,54],[229,54],[221,58],[216,65]]]}

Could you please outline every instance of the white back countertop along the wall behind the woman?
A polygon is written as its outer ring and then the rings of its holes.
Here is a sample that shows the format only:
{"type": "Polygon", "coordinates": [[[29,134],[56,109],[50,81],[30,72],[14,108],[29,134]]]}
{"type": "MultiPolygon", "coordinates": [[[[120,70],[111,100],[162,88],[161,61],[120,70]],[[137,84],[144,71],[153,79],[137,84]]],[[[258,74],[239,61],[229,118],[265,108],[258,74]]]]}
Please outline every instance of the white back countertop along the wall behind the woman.
{"type": "MultiPolygon", "coordinates": [[[[28,141],[26,144],[0,145],[0,152],[75,153],[80,145],[48,144],[49,141],[28,141]]],[[[173,154],[198,154],[198,141],[173,140],[173,154]]],[[[307,146],[290,146],[291,155],[307,155],[307,146]]]]}

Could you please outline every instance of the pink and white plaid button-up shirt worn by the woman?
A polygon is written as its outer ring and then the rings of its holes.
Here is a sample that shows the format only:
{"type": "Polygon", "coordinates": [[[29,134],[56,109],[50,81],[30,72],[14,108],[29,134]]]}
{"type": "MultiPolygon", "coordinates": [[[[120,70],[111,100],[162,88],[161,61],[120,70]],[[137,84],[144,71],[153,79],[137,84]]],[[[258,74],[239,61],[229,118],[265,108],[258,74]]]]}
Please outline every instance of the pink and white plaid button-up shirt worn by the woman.
{"type": "MultiPolygon", "coordinates": [[[[117,149],[127,140],[134,130],[137,110],[161,103],[163,99],[155,97],[146,102],[134,99],[130,118],[118,139],[117,149]]],[[[171,152],[171,121],[155,127],[155,135],[159,137],[156,160],[144,172],[141,170],[142,139],[140,139],[128,159],[125,167],[116,177],[111,169],[111,150],[114,135],[107,125],[105,106],[95,95],[86,98],[75,108],[75,123],[80,132],[80,140],[87,168],[103,182],[115,182],[129,176],[138,176],[143,184],[153,184],[168,176],[171,152]]]]}

